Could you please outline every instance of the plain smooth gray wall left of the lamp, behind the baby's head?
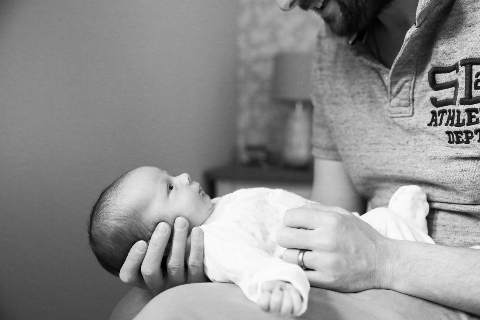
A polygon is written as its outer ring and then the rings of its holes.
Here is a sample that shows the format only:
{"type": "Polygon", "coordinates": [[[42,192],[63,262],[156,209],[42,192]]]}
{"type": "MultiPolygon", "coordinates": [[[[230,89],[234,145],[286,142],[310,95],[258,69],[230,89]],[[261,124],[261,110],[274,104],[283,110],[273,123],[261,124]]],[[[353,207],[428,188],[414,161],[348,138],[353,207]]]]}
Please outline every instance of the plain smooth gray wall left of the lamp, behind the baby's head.
{"type": "Polygon", "coordinates": [[[0,0],[0,319],[106,319],[89,210],[141,165],[232,159],[236,1],[0,0]]]}

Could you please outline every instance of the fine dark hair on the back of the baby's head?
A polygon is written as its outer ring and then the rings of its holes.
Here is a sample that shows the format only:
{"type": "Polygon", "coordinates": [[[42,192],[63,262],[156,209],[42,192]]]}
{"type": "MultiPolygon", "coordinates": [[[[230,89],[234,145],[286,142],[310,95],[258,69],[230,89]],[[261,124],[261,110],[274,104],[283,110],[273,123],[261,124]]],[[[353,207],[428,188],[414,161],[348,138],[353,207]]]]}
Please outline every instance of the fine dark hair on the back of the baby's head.
{"type": "Polygon", "coordinates": [[[132,246],[139,240],[148,241],[154,227],[141,222],[141,215],[148,204],[140,201],[127,204],[126,181],[132,171],[126,172],[105,188],[90,214],[87,226],[88,240],[100,265],[119,276],[132,246]]]}

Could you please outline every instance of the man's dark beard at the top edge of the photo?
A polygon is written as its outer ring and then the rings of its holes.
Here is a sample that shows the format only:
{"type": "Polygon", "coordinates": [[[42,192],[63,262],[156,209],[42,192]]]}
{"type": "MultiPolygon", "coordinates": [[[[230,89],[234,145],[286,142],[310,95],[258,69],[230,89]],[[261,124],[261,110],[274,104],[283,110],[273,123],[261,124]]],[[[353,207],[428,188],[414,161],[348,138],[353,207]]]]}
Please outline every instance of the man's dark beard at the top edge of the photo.
{"type": "MultiPolygon", "coordinates": [[[[340,8],[341,15],[324,17],[324,21],[338,36],[347,36],[365,29],[393,0],[336,1],[340,8]]],[[[308,10],[315,2],[317,2],[317,0],[300,0],[299,7],[303,10],[308,10]]]]}

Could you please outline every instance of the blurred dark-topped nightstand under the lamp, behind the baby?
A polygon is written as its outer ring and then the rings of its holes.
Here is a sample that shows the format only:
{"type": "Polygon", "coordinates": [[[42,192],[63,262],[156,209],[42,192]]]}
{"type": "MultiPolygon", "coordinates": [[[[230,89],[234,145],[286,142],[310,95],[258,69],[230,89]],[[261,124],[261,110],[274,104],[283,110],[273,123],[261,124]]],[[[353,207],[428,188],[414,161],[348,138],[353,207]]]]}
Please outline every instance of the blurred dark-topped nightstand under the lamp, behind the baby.
{"type": "Polygon", "coordinates": [[[221,197],[242,188],[280,188],[308,198],[312,191],[313,170],[295,170],[278,167],[263,169],[231,164],[207,170],[205,192],[221,197]]]}

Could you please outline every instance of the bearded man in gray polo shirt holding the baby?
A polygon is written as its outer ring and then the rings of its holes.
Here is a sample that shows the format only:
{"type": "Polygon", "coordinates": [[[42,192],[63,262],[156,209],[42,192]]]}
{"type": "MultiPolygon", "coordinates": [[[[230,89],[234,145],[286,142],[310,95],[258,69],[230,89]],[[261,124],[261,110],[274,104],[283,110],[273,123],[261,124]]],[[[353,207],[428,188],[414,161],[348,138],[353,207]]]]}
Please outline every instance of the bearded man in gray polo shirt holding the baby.
{"type": "MultiPolygon", "coordinates": [[[[283,258],[291,263],[301,258],[310,269],[315,288],[304,317],[477,319],[472,314],[480,315],[480,250],[469,246],[480,245],[475,91],[480,89],[480,5],[474,0],[277,2],[283,10],[298,5],[318,12],[331,30],[319,37],[313,72],[312,200],[324,205],[289,210],[277,235],[281,246],[291,248],[283,258]],[[438,245],[379,237],[350,214],[365,212],[363,199],[372,208],[386,205],[396,188],[408,184],[420,185],[428,195],[429,232],[438,245]],[[308,251],[299,255],[294,248],[308,251]]],[[[150,287],[152,294],[134,289],[112,319],[122,319],[117,316],[122,310],[136,314],[153,295],[185,279],[203,279],[202,235],[192,240],[192,267],[185,271],[185,227],[175,229],[177,249],[167,259],[167,280],[157,270],[169,231],[154,235],[140,253],[135,253],[140,244],[132,248],[122,280],[150,287]]],[[[170,289],[137,319],[172,315],[276,319],[223,283],[170,289]]]]}

